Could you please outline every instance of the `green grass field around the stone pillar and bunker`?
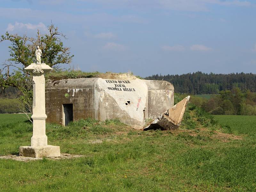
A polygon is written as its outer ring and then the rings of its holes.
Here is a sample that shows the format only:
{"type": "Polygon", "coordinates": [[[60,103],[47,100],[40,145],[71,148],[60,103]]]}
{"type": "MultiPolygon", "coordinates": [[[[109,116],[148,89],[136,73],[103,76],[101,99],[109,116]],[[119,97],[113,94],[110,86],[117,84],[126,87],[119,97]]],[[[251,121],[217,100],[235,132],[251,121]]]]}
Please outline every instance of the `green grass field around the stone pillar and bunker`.
{"type": "MultiPolygon", "coordinates": [[[[256,116],[215,118],[219,125],[177,131],[142,132],[118,120],[47,124],[49,144],[85,157],[0,159],[0,191],[256,191],[256,116]]],[[[30,122],[0,120],[0,155],[30,144],[30,122]]]]}

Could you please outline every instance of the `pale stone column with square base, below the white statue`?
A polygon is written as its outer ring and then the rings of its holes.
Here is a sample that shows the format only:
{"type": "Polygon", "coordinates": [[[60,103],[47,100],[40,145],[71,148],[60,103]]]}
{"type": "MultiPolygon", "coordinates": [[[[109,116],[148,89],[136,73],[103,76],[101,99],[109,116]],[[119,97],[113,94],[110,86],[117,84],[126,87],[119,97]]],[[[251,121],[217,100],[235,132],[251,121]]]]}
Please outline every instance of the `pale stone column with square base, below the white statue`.
{"type": "Polygon", "coordinates": [[[46,64],[32,63],[25,68],[33,73],[33,136],[31,146],[20,147],[20,156],[27,157],[57,157],[60,147],[48,145],[45,134],[45,78],[44,75],[52,68],[46,64]]]}

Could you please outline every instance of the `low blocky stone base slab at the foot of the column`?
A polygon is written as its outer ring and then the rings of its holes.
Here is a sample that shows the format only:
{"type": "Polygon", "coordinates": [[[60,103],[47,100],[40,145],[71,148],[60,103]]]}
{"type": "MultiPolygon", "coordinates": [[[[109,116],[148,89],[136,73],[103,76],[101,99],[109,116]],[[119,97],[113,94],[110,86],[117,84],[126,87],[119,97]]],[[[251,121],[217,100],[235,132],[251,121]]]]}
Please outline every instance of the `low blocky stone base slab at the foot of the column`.
{"type": "Polygon", "coordinates": [[[20,147],[20,156],[43,158],[43,157],[59,157],[60,146],[46,145],[46,146],[22,146],[20,147]]]}

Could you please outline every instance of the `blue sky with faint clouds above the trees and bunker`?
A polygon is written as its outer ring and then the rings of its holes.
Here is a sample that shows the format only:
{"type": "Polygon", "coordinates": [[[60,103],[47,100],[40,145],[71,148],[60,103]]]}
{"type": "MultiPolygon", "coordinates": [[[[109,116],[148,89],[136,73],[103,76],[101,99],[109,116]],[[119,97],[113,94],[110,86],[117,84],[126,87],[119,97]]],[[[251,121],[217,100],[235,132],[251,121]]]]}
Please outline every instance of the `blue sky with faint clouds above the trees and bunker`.
{"type": "Polygon", "coordinates": [[[51,21],[83,71],[256,73],[256,1],[1,0],[1,35],[35,36],[51,21]]]}

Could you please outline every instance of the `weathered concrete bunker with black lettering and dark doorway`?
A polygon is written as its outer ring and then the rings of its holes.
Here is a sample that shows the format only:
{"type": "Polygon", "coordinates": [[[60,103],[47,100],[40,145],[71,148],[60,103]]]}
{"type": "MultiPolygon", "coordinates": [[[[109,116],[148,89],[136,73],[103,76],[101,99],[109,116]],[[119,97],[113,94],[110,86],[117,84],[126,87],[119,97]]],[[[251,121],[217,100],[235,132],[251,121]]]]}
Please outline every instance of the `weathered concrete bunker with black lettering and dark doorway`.
{"type": "Polygon", "coordinates": [[[118,118],[143,129],[145,119],[156,119],[174,105],[174,87],[167,81],[127,74],[48,80],[45,100],[47,122],[65,126],[87,117],[100,121],[118,118]]]}

